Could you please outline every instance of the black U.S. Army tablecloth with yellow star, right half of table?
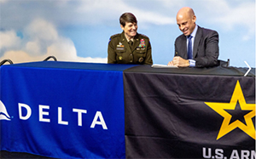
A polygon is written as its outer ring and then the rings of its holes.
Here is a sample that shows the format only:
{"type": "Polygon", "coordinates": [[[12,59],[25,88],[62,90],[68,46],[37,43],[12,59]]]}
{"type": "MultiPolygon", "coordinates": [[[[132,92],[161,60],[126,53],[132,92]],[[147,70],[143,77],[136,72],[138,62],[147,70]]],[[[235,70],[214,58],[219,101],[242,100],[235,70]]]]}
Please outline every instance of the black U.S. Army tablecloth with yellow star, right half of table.
{"type": "Polygon", "coordinates": [[[255,158],[255,74],[246,71],[125,70],[126,157],[255,158]]]}

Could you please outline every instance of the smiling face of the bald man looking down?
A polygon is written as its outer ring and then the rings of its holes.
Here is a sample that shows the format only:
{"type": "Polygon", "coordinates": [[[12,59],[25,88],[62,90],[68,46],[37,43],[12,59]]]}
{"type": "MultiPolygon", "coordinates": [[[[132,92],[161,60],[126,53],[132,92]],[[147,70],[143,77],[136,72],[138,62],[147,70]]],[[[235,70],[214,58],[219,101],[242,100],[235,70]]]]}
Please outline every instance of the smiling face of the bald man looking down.
{"type": "Polygon", "coordinates": [[[195,15],[189,17],[188,14],[178,14],[177,26],[185,36],[189,36],[195,29],[195,20],[196,20],[195,15]]]}

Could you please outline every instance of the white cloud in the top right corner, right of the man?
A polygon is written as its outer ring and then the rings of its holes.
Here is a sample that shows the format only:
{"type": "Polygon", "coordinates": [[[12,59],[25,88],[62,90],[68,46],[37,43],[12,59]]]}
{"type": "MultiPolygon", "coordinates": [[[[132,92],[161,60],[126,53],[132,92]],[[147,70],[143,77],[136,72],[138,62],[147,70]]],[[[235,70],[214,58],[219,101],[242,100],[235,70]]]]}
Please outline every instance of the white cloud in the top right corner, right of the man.
{"type": "Polygon", "coordinates": [[[244,40],[253,38],[255,33],[255,2],[244,1],[233,4],[223,0],[209,1],[201,13],[203,20],[207,23],[216,25],[224,31],[234,31],[237,28],[243,28],[247,34],[242,37],[244,40]],[[212,9],[214,6],[214,9],[212,9]],[[207,14],[205,14],[207,13],[207,14]]]}

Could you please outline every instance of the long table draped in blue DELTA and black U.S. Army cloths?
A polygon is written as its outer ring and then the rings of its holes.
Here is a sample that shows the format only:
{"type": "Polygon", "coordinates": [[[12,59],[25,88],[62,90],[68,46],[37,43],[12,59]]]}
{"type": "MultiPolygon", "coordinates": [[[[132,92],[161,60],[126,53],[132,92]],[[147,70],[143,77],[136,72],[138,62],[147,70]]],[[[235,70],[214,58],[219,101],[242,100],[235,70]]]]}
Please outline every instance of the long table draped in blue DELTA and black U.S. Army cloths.
{"type": "Polygon", "coordinates": [[[56,61],[3,65],[1,150],[56,158],[250,158],[255,69],[243,77],[246,71],[56,61]],[[222,125],[231,130],[219,135],[222,125]]]}

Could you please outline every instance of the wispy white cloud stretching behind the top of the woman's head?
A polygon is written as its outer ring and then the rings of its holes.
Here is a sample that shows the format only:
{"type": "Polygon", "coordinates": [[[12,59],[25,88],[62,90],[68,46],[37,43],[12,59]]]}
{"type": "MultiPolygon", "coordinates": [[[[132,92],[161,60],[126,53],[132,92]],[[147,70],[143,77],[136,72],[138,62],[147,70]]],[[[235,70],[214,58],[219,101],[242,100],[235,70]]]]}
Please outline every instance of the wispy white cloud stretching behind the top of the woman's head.
{"type": "Polygon", "coordinates": [[[166,14],[161,14],[160,11],[156,13],[150,11],[150,9],[134,5],[135,3],[135,1],[129,3],[127,1],[115,0],[81,1],[77,12],[84,14],[85,19],[96,24],[106,20],[119,21],[119,16],[125,12],[135,14],[140,25],[170,25],[176,23],[175,19],[166,14]]]}

